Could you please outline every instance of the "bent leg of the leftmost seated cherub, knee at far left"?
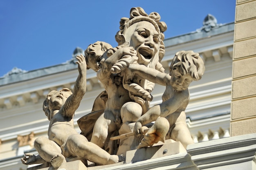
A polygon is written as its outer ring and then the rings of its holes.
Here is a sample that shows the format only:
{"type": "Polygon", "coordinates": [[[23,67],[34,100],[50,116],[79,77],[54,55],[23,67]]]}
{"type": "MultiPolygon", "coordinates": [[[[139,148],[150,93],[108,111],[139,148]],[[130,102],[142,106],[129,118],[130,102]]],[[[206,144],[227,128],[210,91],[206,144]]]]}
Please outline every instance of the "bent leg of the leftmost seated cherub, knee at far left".
{"type": "Polygon", "coordinates": [[[61,154],[61,148],[46,137],[38,137],[34,147],[40,157],[51,163],[54,168],[58,168],[63,162],[66,162],[65,157],[61,154]]]}

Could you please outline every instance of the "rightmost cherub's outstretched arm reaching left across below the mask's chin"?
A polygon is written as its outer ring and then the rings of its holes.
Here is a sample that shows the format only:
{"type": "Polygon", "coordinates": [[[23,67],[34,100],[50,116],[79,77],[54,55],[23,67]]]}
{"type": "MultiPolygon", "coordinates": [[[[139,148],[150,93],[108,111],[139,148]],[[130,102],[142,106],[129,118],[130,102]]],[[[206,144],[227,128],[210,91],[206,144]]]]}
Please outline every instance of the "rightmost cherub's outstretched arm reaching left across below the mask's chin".
{"type": "Polygon", "coordinates": [[[148,68],[140,64],[130,64],[128,71],[132,75],[139,75],[150,82],[160,84],[162,86],[166,86],[167,82],[171,79],[171,76],[166,73],[162,73],[154,68],[148,68]]]}

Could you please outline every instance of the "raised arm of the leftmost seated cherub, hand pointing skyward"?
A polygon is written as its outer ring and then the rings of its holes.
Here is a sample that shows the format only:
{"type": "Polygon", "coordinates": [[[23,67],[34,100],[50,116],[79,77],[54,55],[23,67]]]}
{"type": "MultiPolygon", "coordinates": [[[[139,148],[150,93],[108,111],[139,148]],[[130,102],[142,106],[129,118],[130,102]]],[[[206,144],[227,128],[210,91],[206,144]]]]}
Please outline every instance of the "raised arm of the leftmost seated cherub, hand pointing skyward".
{"type": "Polygon", "coordinates": [[[86,91],[86,61],[85,57],[81,55],[76,56],[78,65],[79,75],[74,84],[74,89],[72,91],[72,95],[67,98],[65,104],[61,108],[61,111],[65,116],[71,117],[74,115],[74,112],[79,107],[81,100],[86,91]]]}

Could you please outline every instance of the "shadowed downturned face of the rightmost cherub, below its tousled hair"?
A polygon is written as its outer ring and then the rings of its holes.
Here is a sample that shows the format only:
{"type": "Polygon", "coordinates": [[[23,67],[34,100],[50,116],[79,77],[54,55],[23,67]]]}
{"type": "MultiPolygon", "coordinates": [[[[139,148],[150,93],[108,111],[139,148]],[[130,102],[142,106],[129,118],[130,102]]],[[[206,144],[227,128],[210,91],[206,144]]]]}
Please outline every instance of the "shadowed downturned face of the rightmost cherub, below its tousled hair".
{"type": "Polygon", "coordinates": [[[178,68],[171,70],[170,84],[176,91],[184,91],[189,88],[190,83],[193,81],[191,75],[182,75],[178,68]]]}

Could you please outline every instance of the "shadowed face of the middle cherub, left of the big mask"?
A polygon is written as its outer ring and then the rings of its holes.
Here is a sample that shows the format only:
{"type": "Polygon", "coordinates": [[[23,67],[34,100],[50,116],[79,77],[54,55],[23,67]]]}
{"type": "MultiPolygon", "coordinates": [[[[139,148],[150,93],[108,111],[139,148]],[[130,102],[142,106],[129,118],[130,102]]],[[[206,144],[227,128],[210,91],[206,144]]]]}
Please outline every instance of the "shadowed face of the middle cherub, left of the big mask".
{"type": "Polygon", "coordinates": [[[106,55],[103,55],[105,51],[101,50],[101,45],[96,45],[94,47],[95,55],[94,54],[89,54],[87,57],[87,65],[92,68],[95,72],[97,72],[99,69],[102,67],[102,63],[106,59],[106,55]],[[101,61],[102,60],[102,61],[101,61]]]}

